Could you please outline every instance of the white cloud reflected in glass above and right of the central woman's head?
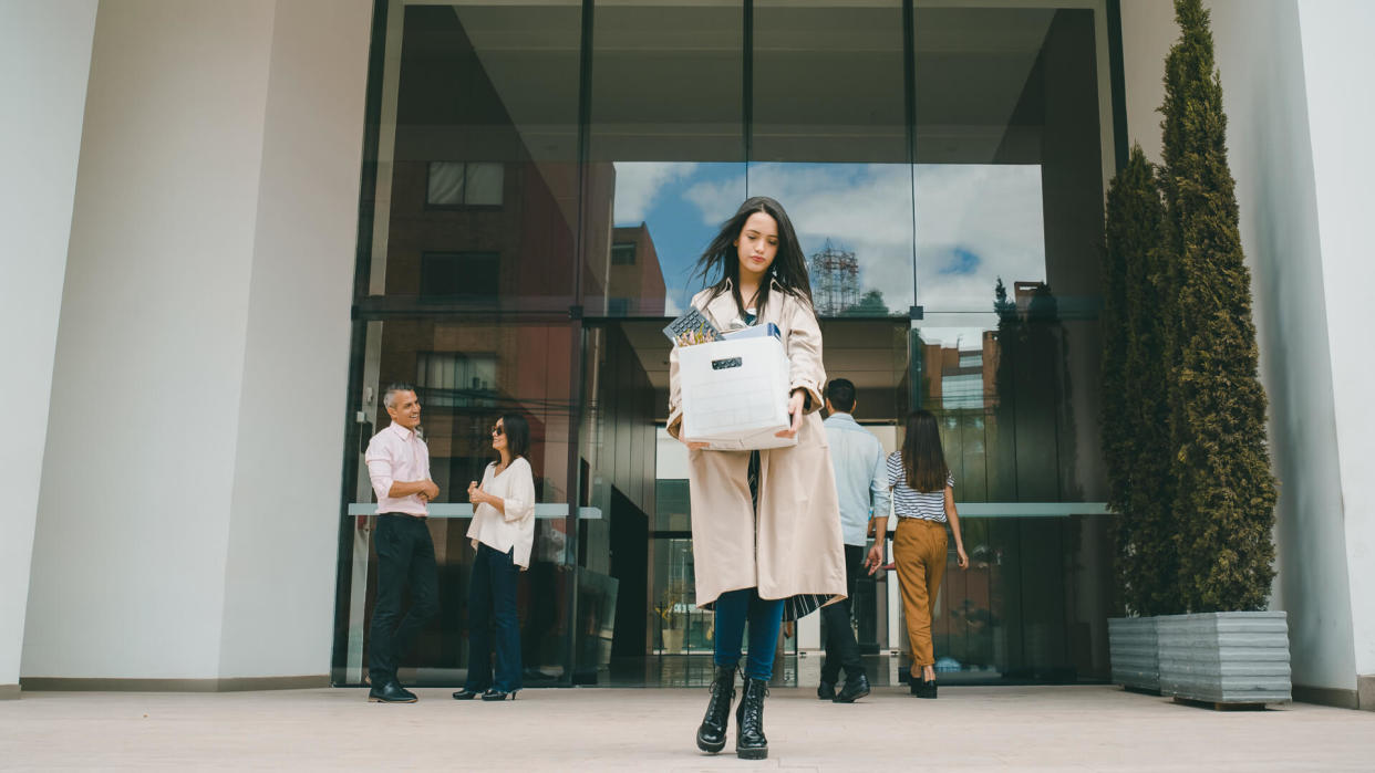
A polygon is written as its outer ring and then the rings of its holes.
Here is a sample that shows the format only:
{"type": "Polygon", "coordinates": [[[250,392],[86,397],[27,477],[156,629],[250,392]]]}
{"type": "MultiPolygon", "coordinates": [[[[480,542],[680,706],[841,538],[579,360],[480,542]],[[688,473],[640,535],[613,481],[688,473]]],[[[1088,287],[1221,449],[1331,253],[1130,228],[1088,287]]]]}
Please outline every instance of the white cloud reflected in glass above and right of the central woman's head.
{"type": "MultiPolygon", "coordinates": [[[[675,165],[617,163],[617,172],[622,166],[675,165]]],[[[895,312],[913,303],[914,284],[928,313],[987,312],[1000,276],[1008,287],[1045,280],[1040,166],[917,165],[914,172],[903,163],[754,163],[748,184],[751,195],[773,196],[786,207],[807,255],[826,239],[854,250],[861,295],[877,290],[895,312]]],[[[688,185],[681,198],[710,225],[736,211],[745,187],[738,174],[663,180],[660,185],[688,185]]],[[[616,206],[620,221],[619,192],[616,206]]]]}

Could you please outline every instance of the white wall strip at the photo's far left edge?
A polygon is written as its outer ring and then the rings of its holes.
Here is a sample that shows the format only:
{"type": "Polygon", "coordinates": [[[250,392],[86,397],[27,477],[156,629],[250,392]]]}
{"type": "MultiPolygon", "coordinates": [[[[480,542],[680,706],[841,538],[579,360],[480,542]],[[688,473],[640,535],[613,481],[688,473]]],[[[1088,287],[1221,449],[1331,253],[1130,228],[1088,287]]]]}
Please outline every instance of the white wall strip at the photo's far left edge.
{"type": "Polygon", "coordinates": [[[96,0],[0,0],[0,688],[19,684],[96,0]]]}

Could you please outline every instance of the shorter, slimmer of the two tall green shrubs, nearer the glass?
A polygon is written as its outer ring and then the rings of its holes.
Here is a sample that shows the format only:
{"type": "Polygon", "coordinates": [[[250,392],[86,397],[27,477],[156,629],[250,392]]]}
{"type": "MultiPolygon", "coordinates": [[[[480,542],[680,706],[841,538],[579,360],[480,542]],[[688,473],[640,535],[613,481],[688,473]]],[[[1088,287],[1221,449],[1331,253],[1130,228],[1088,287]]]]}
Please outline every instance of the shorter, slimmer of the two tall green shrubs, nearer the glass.
{"type": "Polygon", "coordinates": [[[1101,427],[1108,507],[1121,516],[1118,588],[1140,615],[1181,605],[1160,317],[1163,218],[1155,173],[1133,146],[1107,196],[1101,427]]]}

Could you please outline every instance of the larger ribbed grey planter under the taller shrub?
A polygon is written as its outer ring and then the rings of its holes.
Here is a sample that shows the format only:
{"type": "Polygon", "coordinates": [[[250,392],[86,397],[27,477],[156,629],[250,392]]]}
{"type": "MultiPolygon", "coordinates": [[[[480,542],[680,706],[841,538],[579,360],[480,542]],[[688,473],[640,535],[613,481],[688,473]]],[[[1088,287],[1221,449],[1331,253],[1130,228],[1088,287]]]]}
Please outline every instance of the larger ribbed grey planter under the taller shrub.
{"type": "Polygon", "coordinates": [[[1160,695],[1206,703],[1292,700],[1284,612],[1206,612],[1156,621],[1160,695]]]}

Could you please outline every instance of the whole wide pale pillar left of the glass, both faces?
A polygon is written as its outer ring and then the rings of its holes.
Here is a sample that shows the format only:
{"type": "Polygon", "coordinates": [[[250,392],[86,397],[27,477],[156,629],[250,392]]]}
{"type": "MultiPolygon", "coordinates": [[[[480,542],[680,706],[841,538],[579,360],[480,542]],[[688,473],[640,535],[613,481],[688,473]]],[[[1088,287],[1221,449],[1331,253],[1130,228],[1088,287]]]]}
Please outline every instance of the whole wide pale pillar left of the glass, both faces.
{"type": "Polygon", "coordinates": [[[360,5],[100,5],[25,678],[327,671],[360,5]]]}

